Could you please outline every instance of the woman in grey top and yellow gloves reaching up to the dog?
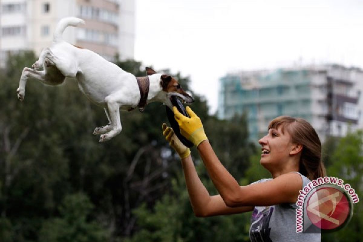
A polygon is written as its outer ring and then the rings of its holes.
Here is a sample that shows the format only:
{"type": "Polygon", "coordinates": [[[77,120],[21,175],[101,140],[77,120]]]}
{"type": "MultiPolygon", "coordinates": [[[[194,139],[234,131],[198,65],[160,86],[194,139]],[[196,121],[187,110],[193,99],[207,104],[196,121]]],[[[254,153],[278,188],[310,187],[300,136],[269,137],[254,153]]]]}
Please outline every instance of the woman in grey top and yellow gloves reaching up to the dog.
{"type": "Polygon", "coordinates": [[[321,143],[314,128],[301,118],[281,116],[272,120],[262,146],[261,165],[272,175],[250,185],[240,186],[215,155],[200,118],[186,108],[187,118],[174,107],[180,132],[196,145],[219,195],[210,196],[200,181],[189,148],[172,128],[163,124],[163,135],[178,152],[189,198],[197,217],[253,211],[251,241],[320,241],[319,233],[296,233],[295,209],[299,190],[310,180],[325,176],[321,143]]]}

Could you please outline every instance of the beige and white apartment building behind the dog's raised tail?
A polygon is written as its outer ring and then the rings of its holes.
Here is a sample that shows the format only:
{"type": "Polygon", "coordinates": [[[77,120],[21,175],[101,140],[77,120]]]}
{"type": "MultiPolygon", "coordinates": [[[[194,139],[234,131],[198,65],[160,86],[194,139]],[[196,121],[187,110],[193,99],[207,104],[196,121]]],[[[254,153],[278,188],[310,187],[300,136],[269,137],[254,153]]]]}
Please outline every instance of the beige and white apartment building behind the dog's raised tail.
{"type": "Polygon", "coordinates": [[[134,58],[134,0],[0,0],[0,66],[9,53],[50,45],[60,19],[76,16],[86,25],[69,27],[64,39],[114,60],[134,58]]]}

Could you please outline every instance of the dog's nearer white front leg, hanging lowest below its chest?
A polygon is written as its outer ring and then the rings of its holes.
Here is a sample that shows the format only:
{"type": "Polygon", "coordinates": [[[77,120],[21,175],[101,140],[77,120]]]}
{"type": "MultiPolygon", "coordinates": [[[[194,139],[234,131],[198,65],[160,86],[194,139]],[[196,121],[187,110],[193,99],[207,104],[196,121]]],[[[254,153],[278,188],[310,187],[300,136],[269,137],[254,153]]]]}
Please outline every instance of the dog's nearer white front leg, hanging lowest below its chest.
{"type": "Polygon", "coordinates": [[[118,103],[118,95],[117,93],[111,94],[105,98],[107,109],[110,115],[111,121],[111,130],[106,134],[103,134],[99,138],[99,142],[104,142],[112,139],[116,135],[118,135],[121,130],[121,119],[120,119],[120,105],[118,103]]]}

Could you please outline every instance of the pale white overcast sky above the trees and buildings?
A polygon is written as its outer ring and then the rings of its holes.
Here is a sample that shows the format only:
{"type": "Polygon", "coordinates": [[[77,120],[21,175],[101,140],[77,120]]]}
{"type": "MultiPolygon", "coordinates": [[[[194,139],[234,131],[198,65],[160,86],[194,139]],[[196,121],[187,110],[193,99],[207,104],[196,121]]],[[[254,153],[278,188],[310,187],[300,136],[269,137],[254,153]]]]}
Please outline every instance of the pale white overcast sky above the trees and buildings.
{"type": "Polygon", "coordinates": [[[135,59],[189,76],[213,114],[231,71],[363,68],[363,1],[136,0],[135,59]]]}

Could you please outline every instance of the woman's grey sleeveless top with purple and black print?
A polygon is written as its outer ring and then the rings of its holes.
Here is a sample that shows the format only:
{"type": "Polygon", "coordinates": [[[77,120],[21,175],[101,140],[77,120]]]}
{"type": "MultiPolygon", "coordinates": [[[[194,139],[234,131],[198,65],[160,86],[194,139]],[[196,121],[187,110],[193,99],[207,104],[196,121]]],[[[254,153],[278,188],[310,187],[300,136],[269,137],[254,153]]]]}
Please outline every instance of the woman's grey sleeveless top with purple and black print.
{"type": "MultiPolygon", "coordinates": [[[[296,172],[298,173],[298,172],[296,172]]],[[[298,173],[300,174],[300,173],[298,173]]],[[[301,175],[302,188],[310,180],[301,175]]],[[[253,182],[265,182],[261,179],[253,182]]],[[[296,233],[296,208],[293,204],[277,204],[272,206],[255,206],[251,218],[249,237],[252,242],[317,242],[321,240],[321,233],[296,233]]]]}

